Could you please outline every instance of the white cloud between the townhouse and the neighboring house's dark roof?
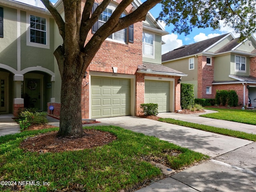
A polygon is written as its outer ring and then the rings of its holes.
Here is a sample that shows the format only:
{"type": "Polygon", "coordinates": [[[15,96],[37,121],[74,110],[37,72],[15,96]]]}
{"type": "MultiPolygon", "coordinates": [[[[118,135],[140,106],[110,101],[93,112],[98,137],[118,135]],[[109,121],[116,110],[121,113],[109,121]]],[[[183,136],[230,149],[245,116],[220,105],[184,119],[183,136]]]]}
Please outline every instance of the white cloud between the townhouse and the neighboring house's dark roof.
{"type": "Polygon", "coordinates": [[[162,41],[166,43],[162,45],[162,54],[182,46],[182,40],[178,39],[178,35],[173,33],[163,36],[162,41]]]}

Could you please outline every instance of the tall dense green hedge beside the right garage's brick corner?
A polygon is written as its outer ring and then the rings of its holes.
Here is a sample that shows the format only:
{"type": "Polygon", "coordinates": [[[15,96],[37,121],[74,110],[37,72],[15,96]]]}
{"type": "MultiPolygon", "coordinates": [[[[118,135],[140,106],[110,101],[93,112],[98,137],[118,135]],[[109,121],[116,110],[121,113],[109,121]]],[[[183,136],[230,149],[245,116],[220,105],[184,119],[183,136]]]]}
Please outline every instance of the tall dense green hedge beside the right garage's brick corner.
{"type": "Polygon", "coordinates": [[[180,84],[180,105],[182,109],[187,109],[188,106],[194,106],[194,85],[193,84],[180,84]]]}

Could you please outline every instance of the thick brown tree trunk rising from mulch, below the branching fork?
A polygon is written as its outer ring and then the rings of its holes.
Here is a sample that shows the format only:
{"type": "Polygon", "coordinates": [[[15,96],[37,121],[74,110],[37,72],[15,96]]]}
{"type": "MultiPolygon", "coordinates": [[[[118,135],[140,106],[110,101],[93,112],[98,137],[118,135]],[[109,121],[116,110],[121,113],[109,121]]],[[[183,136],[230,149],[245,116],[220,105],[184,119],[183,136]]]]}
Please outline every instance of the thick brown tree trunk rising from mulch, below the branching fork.
{"type": "Polygon", "coordinates": [[[78,138],[84,135],[81,113],[82,71],[80,61],[64,64],[60,95],[60,136],[78,138]]]}

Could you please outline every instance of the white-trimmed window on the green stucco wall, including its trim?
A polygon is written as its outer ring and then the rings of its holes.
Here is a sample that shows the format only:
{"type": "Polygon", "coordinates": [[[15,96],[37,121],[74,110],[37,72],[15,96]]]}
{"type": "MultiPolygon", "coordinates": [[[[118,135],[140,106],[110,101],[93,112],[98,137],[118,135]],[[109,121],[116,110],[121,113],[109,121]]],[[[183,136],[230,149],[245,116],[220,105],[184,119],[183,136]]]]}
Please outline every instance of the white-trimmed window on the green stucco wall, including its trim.
{"type": "Polygon", "coordinates": [[[50,48],[49,18],[27,14],[27,45],[50,48]]]}

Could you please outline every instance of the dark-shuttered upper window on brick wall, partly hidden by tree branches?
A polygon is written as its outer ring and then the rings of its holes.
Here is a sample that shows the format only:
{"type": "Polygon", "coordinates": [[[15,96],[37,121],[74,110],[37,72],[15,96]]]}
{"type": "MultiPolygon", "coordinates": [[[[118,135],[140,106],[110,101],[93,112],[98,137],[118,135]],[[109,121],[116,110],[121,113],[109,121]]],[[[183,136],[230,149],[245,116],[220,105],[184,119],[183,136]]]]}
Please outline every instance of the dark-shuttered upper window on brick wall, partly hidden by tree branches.
{"type": "MultiPolygon", "coordinates": [[[[94,3],[92,12],[94,12],[94,10],[97,8],[97,6],[98,6],[98,4],[94,3]]],[[[106,23],[108,21],[108,19],[111,17],[114,10],[115,10],[115,6],[109,5],[108,8],[106,8],[100,14],[98,21],[92,27],[92,33],[95,33],[98,30],[98,28],[100,28],[102,25],[104,25],[104,23],[106,23]]],[[[124,16],[126,16],[126,15],[124,13],[122,13],[120,15],[120,18],[122,18],[124,16]]],[[[127,42],[127,33],[128,33],[128,41],[133,43],[133,25],[129,26],[128,32],[127,32],[127,29],[125,28],[125,29],[122,29],[118,32],[111,34],[110,36],[108,36],[108,38],[112,39],[114,41],[118,41],[118,42],[127,42]]]]}

